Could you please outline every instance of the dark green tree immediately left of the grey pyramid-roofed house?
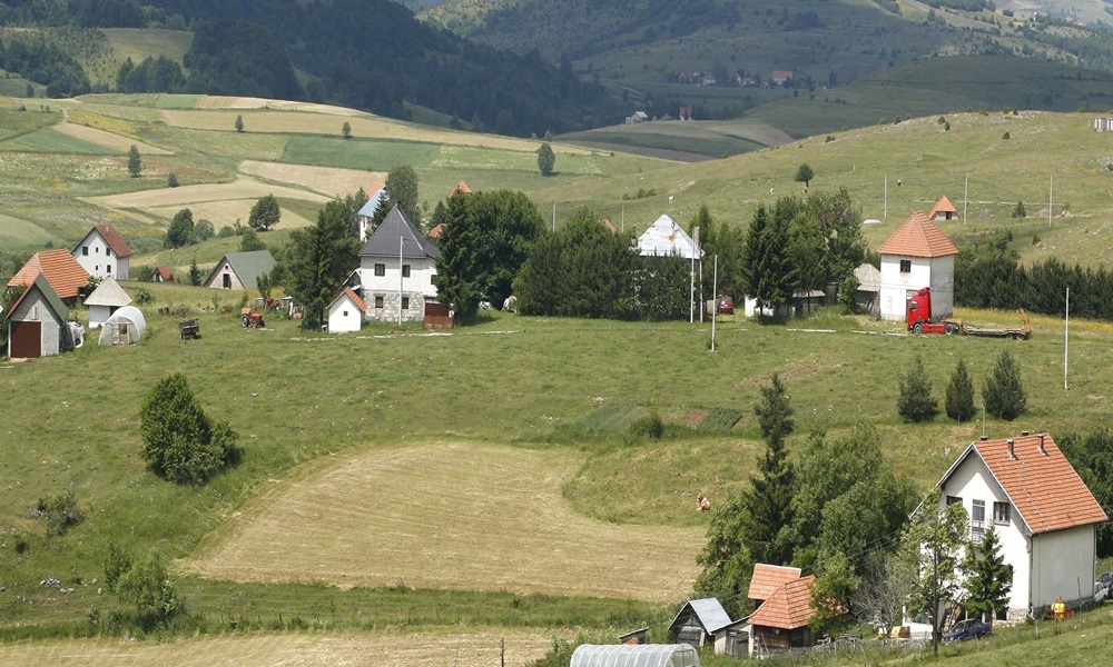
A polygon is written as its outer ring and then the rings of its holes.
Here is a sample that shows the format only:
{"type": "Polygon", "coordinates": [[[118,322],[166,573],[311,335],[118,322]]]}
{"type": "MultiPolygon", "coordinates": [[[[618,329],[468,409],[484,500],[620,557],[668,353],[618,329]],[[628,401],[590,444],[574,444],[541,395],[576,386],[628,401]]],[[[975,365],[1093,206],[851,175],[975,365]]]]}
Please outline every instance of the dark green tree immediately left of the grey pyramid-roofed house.
{"type": "Polygon", "coordinates": [[[347,208],[329,201],[315,225],[290,232],[284,285],[309,315],[307,325],[324,321],[325,308],[344,279],[359,266],[359,242],[347,233],[347,208]]]}

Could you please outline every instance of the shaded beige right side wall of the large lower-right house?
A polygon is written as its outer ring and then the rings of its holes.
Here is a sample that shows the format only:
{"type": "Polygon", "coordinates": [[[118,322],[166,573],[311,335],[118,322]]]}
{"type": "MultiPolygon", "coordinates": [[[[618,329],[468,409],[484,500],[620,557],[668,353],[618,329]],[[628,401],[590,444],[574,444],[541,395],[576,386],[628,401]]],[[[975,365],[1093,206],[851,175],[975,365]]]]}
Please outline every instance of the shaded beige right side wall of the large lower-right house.
{"type": "Polygon", "coordinates": [[[1058,597],[1067,601],[1090,598],[1094,590],[1095,550],[1093,526],[1035,536],[1032,540],[1033,608],[1038,611],[1058,597]]]}

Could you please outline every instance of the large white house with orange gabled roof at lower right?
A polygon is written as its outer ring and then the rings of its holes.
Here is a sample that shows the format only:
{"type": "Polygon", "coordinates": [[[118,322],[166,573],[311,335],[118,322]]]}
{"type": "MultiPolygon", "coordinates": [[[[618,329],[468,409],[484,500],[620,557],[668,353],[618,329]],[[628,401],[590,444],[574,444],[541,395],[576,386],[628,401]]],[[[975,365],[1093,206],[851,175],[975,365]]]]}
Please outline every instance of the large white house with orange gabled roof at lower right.
{"type": "Polygon", "coordinates": [[[972,541],[996,529],[1013,566],[1009,619],[1091,599],[1097,525],[1109,517],[1050,435],[971,442],[936,486],[940,508],[966,509],[972,541]]]}

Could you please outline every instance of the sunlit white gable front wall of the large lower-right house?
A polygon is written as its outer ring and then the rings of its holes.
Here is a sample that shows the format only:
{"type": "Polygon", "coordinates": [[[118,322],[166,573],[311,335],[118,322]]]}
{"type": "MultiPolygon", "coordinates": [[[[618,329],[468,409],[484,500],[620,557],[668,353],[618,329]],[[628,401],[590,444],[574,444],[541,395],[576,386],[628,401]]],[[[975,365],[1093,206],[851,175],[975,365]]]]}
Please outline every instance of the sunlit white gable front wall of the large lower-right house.
{"type": "MultiPolygon", "coordinates": [[[[971,454],[947,479],[943,487],[944,497],[940,502],[946,502],[947,496],[956,496],[963,499],[963,507],[967,516],[973,519],[974,500],[985,502],[986,530],[993,522],[993,504],[1008,502],[1007,496],[993,479],[989,469],[985,467],[982,459],[976,454],[971,454]]],[[[1009,593],[1009,617],[1023,618],[1027,615],[1030,603],[1030,573],[1032,571],[1032,558],[1028,555],[1030,538],[1025,535],[1024,524],[1016,514],[1015,507],[1009,507],[1009,521],[1007,525],[995,524],[997,540],[1001,544],[1001,552],[1005,557],[1005,563],[1013,566],[1013,588],[1009,593]]],[[[969,537],[969,531],[967,531],[969,537]]],[[[1091,565],[1091,570],[1093,566],[1091,565]]]]}

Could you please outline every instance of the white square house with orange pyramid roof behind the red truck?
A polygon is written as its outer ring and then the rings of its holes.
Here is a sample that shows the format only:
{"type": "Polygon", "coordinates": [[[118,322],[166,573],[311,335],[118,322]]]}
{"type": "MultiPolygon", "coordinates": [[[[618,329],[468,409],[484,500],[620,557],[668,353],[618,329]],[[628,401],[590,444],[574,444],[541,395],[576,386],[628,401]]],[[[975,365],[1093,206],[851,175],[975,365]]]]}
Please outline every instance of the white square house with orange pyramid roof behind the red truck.
{"type": "Polygon", "coordinates": [[[925,287],[932,288],[933,319],[953,313],[958,248],[924,211],[913,213],[879,252],[881,319],[903,320],[908,296],[925,287]]]}

